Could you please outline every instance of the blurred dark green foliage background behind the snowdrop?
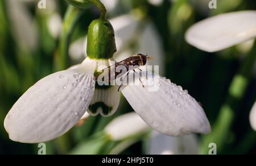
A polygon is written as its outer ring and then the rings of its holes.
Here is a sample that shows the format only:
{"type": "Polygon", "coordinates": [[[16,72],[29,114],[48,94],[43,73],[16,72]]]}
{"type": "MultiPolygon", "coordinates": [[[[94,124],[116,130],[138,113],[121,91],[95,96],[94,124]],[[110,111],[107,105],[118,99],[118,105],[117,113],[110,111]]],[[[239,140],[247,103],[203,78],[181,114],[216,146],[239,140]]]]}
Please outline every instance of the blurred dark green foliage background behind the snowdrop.
{"type": "MultiPolygon", "coordinates": [[[[0,154],[38,153],[37,144],[11,141],[3,127],[3,120],[15,101],[40,78],[81,63],[81,56],[72,58],[68,55],[72,53],[68,52],[69,45],[85,36],[89,23],[100,14],[95,7],[89,7],[78,11],[79,14],[73,18],[67,18],[68,4],[63,0],[47,0],[47,3],[52,3],[50,1],[54,1],[55,7],[38,9],[38,1],[15,0],[12,3],[0,0],[0,154]],[[14,7],[15,3],[18,5],[14,7]],[[19,15],[18,10],[25,15],[19,15]],[[53,26],[53,30],[49,30],[48,25],[49,18],[56,14],[64,20],[64,31],[60,34],[57,34],[57,27],[53,26]],[[31,22],[24,21],[26,19],[23,17],[30,18],[31,22]],[[72,24],[75,27],[70,27],[72,24]]],[[[256,2],[221,0],[214,10],[208,8],[208,3],[206,0],[165,0],[160,5],[154,5],[147,0],[119,0],[110,6],[105,5],[109,10],[108,19],[129,14],[142,18],[139,21],[142,25],[144,20],[154,25],[162,44],[163,55],[152,56],[163,57],[164,76],[189,90],[191,96],[203,105],[213,127],[212,134],[199,135],[201,153],[207,153],[208,144],[213,140],[220,142],[219,154],[255,154],[256,132],[250,127],[249,113],[256,100],[256,68],[246,71],[254,73],[254,76],[248,77],[245,92],[240,98],[230,99],[229,87],[246,56],[256,51],[251,52],[246,44],[240,44],[221,52],[207,53],[187,44],[184,34],[189,26],[209,16],[230,11],[255,10],[256,2]],[[221,111],[224,103],[231,105],[232,111],[221,111]]],[[[53,21],[53,24],[57,22],[53,21]]],[[[143,26],[138,29],[139,33],[142,31],[143,26]]],[[[136,47],[136,44],[122,44],[131,49],[136,47]]],[[[137,52],[133,52],[135,53],[137,52]]],[[[115,115],[108,118],[90,117],[84,125],[74,127],[64,136],[48,142],[47,153],[71,153],[81,144],[84,145],[84,150],[80,150],[82,153],[110,153],[113,148],[129,140],[106,143],[98,135],[113,118],[130,111],[133,109],[122,98],[115,115]]],[[[120,153],[147,153],[147,141],[147,134],[139,136],[120,153]]]]}

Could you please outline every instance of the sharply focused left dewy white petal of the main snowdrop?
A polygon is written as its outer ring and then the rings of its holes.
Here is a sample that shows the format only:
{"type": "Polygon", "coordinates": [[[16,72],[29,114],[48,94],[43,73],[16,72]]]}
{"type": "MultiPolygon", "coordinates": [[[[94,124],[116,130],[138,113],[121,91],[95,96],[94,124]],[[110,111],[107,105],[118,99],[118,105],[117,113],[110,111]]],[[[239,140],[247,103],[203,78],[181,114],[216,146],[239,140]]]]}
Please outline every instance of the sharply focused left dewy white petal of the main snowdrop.
{"type": "Polygon", "coordinates": [[[79,68],[53,73],[28,89],[5,118],[10,139],[46,142],[73,127],[93,97],[93,64],[86,59],[79,68]]]}

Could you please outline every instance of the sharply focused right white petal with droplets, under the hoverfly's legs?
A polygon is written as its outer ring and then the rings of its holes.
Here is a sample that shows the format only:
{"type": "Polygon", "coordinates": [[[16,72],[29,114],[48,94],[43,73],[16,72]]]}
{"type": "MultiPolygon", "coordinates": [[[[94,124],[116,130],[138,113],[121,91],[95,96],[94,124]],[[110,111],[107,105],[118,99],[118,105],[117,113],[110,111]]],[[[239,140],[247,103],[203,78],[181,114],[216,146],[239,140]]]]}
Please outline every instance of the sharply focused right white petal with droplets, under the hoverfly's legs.
{"type": "Polygon", "coordinates": [[[149,126],[170,136],[210,132],[204,110],[186,90],[159,76],[142,79],[144,88],[138,80],[123,86],[122,93],[149,126]]]}

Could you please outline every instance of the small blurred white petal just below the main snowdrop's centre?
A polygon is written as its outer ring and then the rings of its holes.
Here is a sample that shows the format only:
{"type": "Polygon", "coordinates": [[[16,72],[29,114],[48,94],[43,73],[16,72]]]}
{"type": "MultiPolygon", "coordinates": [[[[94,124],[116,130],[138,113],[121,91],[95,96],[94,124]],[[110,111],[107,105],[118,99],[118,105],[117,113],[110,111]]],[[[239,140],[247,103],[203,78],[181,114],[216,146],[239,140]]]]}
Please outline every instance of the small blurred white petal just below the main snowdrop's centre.
{"type": "Polygon", "coordinates": [[[147,124],[136,113],[127,113],[115,118],[105,127],[105,132],[112,140],[122,140],[146,132],[147,124]]]}

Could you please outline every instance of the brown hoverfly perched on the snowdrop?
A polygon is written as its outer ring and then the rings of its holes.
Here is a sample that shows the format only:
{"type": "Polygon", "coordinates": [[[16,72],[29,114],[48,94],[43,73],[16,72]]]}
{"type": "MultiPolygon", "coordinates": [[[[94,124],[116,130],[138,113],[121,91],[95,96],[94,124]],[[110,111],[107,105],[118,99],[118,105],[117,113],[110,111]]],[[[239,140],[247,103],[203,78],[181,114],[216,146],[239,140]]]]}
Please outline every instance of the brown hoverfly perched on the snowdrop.
{"type": "MultiPolygon", "coordinates": [[[[97,72],[94,75],[94,80],[97,81],[98,76],[100,76],[101,74],[104,74],[105,72],[108,73],[108,79],[109,79],[108,82],[112,82],[117,78],[121,78],[125,74],[126,74],[126,76],[128,76],[129,73],[131,72],[131,70],[133,70],[135,73],[137,73],[135,71],[135,69],[139,69],[139,67],[146,65],[147,60],[150,60],[150,59],[151,59],[150,56],[143,55],[142,53],[138,53],[137,55],[130,56],[125,60],[119,61],[118,63],[110,65],[108,68],[105,68],[105,69],[101,70],[100,72],[97,72]],[[123,71],[124,69],[125,69],[125,72],[123,71]],[[114,74],[111,74],[113,72],[114,72],[114,74]]],[[[139,69],[139,70],[142,72],[141,69],[139,69]]],[[[139,80],[141,81],[140,77],[139,77],[139,80]]],[[[144,87],[143,84],[142,84],[142,86],[144,87]]],[[[120,88],[121,88],[121,86],[119,86],[118,91],[120,88]]]]}

